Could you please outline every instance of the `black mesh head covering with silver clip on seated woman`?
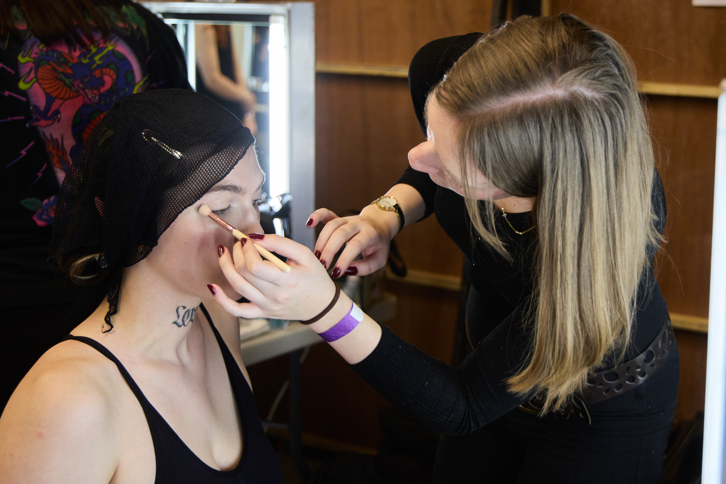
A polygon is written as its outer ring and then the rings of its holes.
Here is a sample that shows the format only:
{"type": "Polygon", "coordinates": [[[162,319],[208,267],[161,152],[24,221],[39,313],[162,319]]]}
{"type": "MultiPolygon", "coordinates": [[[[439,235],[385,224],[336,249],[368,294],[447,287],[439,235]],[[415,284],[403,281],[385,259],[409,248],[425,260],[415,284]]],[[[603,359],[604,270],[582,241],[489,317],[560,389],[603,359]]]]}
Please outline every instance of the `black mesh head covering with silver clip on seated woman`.
{"type": "Polygon", "coordinates": [[[185,208],[227,176],[254,143],[250,130],[208,97],[159,89],[121,99],[94,128],[60,188],[49,261],[86,250],[107,273],[83,290],[76,327],[105,295],[104,331],[118,311],[121,268],[145,258],[185,208]]]}

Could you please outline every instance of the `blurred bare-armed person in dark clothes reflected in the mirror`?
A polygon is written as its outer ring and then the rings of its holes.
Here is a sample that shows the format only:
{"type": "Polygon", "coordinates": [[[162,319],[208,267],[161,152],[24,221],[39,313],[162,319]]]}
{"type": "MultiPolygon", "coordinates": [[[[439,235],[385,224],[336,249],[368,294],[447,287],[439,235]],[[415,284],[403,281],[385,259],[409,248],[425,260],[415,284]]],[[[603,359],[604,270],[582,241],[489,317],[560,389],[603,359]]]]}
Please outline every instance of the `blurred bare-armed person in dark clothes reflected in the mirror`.
{"type": "MultiPolygon", "coordinates": [[[[205,94],[257,133],[257,99],[247,86],[229,25],[195,25],[197,92],[205,94]]],[[[250,49],[252,47],[250,46],[250,49]]]]}

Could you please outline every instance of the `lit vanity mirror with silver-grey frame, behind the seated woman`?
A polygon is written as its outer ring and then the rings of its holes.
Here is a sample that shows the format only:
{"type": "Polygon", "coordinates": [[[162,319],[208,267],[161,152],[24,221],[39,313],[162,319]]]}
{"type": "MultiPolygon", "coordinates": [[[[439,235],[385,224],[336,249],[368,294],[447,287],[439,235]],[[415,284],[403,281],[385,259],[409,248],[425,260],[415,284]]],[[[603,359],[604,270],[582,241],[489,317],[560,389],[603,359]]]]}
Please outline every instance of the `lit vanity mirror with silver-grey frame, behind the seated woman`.
{"type": "Polygon", "coordinates": [[[313,248],[314,4],[143,4],[176,30],[192,87],[255,134],[275,231],[313,248]]]}

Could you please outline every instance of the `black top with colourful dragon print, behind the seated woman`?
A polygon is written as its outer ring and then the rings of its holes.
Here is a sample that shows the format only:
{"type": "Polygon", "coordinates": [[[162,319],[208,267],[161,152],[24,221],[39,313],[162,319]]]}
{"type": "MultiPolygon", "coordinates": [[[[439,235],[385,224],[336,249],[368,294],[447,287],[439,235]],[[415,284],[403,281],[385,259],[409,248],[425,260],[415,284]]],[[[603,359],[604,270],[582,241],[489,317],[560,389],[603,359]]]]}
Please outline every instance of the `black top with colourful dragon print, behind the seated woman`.
{"type": "Polygon", "coordinates": [[[42,44],[18,9],[21,36],[0,33],[0,287],[52,274],[45,259],[58,187],[107,110],[146,89],[190,89],[174,30],[131,1],[121,15],[101,12],[110,35],[84,43],[42,44]]]}

